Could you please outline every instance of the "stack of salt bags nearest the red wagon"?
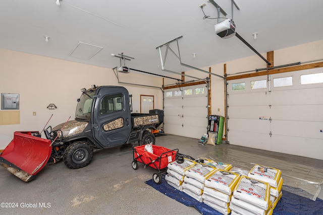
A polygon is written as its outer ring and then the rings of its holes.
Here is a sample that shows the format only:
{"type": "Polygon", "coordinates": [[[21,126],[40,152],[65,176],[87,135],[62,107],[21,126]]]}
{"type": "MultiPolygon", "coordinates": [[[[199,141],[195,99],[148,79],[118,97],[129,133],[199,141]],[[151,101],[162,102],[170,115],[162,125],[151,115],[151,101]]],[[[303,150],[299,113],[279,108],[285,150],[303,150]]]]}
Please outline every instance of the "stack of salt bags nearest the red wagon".
{"type": "Polygon", "coordinates": [[[173,161],[167,166],[167,175],[165,176],[165,180],[172,187],[183,191],[182,183],[184,181],[185,171],[190,167],[196,164],[195,161],[184,158],[184,162],[179,164],[177,161],[173,161]]]}

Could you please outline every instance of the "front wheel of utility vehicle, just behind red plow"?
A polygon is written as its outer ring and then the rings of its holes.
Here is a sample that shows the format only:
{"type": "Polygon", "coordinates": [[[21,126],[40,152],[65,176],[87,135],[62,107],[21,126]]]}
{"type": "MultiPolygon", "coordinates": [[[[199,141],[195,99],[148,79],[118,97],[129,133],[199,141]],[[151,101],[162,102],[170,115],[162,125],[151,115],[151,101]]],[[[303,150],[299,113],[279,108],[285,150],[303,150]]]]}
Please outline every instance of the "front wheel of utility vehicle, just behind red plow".
{"type": "Polygon", "coordinates": [[[76,141],[68,146],[63,160],[70,169],[79,169],[87,166],[93,157],[93,148],[85,141],[76,141]]]}

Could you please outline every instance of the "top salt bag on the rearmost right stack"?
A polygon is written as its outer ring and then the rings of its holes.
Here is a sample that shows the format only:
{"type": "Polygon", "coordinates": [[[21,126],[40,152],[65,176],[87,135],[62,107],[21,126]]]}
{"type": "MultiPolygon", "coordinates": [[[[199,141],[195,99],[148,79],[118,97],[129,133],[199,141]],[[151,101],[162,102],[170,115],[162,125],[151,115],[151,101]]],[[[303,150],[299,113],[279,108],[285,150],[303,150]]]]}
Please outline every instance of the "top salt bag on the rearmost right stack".
{"type": "Polygon", "coordinates": [[[282,171],[279,169],[256,164],[248,173],[248,177],[270,183],[272,187],[277,187],[281,174],[282,171]]]}

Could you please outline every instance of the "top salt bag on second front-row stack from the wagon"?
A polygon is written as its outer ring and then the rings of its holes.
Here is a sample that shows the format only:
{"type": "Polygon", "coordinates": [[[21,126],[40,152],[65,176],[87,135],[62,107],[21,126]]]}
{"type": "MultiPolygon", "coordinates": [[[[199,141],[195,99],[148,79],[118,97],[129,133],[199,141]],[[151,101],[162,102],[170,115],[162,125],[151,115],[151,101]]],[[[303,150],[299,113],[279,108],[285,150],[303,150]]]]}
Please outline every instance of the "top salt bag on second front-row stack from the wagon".
{"type": "Polygon", "coordinates": [[[196,164],[195,166],[186,170],[185,175],[204,183],[205,178],[212,174],[217,169],[208,165],[196,164]]]}

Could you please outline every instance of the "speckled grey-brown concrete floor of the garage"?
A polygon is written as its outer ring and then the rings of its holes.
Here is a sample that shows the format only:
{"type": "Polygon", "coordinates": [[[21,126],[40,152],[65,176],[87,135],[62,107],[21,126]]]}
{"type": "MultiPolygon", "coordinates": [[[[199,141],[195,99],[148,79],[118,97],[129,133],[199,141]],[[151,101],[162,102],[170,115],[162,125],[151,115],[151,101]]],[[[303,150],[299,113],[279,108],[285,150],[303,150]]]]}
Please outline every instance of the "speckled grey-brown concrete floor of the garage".
{"type": "MultiPolygon", "coordinates": [[[[310,169],[323,175],[321,160],[227,144],[201,146],[197,141],[176,135],[156,137],[156,145],[179,149],[180,153],[194,158],[240,162],[230,155],[236,151],[255,155],[253,163],[262,165],[267,159],[296,166],[310,164],[310,169]]],[[[30,182],[23,182],[0,168],[0,202],[14,203],[15,206],[0,207],[0,214],[199,214],[195,208],[185,206],[145,184],[156,170],[144,169],[142,164],[134,170],[132,160],[132,145],[102,150],[94,153],[92,162],[85,168],[72,170],[64,162],[49,164],[30,182]]],[[[241,166],[252,167],[248,162],[241,166]]],[[[318,196],[322,198],[322,192],[318,196]]]]}

